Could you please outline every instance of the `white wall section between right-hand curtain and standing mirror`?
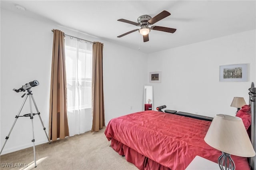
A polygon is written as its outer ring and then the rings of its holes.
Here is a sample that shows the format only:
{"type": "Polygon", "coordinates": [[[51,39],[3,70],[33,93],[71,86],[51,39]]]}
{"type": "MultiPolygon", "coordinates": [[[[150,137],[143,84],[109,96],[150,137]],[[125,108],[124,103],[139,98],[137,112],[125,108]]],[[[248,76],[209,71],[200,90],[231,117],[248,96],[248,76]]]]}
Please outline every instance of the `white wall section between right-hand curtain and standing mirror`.
{"type": "Polygon", "coordinates": [[[143,111],[143,88],[147,80],[146,54],[116,44],[104,44],[105,122],[143,111]]]}

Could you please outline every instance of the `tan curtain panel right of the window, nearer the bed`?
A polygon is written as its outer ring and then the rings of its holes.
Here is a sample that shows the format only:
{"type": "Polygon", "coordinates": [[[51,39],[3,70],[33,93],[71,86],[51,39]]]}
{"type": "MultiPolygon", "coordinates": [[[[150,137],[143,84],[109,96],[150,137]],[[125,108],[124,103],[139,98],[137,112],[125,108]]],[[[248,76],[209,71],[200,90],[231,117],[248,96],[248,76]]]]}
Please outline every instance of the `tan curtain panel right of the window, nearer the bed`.
{"type": "Polygon", "coordinates": [[[103,71],[103,43],[92,45],[92,132],[98,132],[105,126],[103,71]]]}

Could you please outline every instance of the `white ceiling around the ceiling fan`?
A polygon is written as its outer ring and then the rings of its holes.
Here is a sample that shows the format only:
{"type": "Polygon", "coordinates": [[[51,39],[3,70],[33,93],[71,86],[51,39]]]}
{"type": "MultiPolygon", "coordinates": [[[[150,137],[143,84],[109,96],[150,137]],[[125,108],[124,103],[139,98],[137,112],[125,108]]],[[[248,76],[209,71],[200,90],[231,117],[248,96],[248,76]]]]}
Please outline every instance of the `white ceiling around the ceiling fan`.
{"type": "Polygon", "coordinates": [[[50,20],[62,27],[145,53],[256,29],[255,0],[1,0],[1,8],[36,19],[50,20]],[[21,5],[26,10],[17,10],[14,4],[21,5]],[[137,18],[141,15],[147,14],[154,17],[163,10],[170,12],[171,15],[153,25],[176,28],[174,34],[151,30],[149,42],[145,43],[139,32],[117,38],[121,34],[139,28],[118,22],[118,19],[137,22],[137,18]]]}

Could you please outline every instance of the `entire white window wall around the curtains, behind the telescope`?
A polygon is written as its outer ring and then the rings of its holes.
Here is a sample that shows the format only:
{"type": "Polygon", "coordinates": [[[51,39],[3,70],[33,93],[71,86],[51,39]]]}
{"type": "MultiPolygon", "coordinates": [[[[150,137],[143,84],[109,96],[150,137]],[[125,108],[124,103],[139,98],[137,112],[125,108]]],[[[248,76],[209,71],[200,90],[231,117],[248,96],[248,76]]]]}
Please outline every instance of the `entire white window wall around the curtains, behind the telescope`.
{"type": "MultiPolygon", "coordinates": [[[[104,43],[106,124],[114,117],[142,111],[143,85],[146,82],[144,53],[62,28],[46,20],[35,20],[1,8],[1,148],[24,100],[21,98],[23,93],[16,93],[12,89],[20,88],[35,79],[40,85],[33,87],[32,93],[48,133],[52,29],[104,43]]],[[[27,101],[20,115],[30,113],[28,107],[27,101]]],[[[34,108],[33,111],[36,112],[34,108]]],[[[32,146],[31,129],[29,118],[18,118],[2,154],[32,146]]],[[[34,133],[36,144],[47,142],[38,116],[34,117],[34,133]]]]}

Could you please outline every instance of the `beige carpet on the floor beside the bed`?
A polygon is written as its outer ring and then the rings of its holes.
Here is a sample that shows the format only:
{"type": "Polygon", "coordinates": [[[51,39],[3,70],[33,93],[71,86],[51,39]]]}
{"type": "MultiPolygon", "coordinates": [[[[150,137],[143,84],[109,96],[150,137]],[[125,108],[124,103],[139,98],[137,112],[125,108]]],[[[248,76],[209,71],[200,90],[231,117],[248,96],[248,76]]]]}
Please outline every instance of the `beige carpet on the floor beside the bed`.
{"type": "Polygon", "coordinates": [[[115,152],[104,134],[99,132],[65,138],[64,140],[36,146],[36,163],[34,168],[33,147],[1,155],[1,170],[138,170],[115,152]],[[25,166],[27,168],[17,167],[25,166]],[[11,168],[3,167],[6,165],[11,168]],[[16,166],[16,167],[15,167],[16,166]]]}

